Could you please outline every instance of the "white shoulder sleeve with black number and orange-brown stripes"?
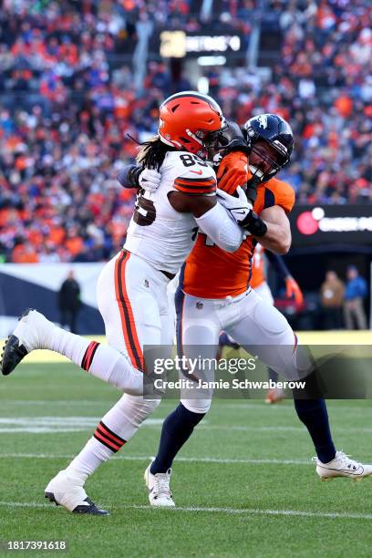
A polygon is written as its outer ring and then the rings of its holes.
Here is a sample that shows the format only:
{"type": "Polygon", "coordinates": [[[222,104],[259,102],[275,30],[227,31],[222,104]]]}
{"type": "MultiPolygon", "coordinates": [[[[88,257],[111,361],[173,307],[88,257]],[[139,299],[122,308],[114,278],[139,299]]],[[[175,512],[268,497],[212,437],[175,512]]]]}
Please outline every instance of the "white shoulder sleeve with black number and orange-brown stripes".
{"type": "Polygon", "coordinates": [[[212,168],[190,154],[187,154],[186,158],[183,154],[183,157],[184,160],[180,157],[180,163],[177,165],[178,175],[174,180],[174,189],[194,195],[215,194],[217,180],[212,168]]]}

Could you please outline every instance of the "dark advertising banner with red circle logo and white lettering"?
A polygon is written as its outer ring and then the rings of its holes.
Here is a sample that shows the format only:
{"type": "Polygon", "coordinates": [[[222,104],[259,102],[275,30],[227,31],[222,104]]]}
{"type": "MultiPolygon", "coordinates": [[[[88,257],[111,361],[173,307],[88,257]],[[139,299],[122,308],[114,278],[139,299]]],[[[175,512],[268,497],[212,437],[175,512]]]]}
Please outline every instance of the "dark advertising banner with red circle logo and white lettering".
{"type": "Polygon", "coordinates": [[[372,205],[297,205],[289,220],[293,248],[372,244],[372,205]]]}

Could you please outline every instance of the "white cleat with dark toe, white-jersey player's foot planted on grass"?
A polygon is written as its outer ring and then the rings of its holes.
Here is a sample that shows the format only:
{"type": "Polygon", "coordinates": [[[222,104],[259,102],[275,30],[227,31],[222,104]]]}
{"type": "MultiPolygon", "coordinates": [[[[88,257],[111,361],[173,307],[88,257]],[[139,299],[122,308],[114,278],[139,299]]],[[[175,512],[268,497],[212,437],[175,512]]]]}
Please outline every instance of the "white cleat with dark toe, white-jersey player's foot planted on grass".
{"type": "Polygon", "coordinates": [[[102,510],[88,498],[81,480],[68,476],[66,470],[60,470],[57,476],[50,480],[44,496],[63,506],[73,513],[88,513],[90,515],[109,515],[109,511],[102,510]]]}

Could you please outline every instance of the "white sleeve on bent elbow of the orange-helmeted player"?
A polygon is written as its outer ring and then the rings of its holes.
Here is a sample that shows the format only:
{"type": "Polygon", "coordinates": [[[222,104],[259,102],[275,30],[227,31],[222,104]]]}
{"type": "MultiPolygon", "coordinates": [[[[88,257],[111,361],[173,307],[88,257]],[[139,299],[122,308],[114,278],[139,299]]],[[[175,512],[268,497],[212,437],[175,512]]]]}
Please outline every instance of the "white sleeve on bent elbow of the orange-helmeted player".
{"type": "Polygon", "coordinates": [[[202,217],[195,217],[195,221],[202,232],[225,252],[236,252],[243,242],[243,230],[220,203],[216,203],[202,217]]]}

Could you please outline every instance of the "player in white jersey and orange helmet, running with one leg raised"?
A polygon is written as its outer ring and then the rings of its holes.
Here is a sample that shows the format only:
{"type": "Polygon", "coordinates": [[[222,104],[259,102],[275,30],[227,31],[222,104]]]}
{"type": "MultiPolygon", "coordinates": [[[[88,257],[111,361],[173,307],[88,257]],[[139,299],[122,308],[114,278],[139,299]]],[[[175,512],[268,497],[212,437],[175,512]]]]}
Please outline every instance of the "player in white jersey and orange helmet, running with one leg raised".
{"type": "Polygon", "coordinates": [[[47,485],[46,497],[69,511],[108,513],[88,499],[84,483],[160,402],[142,396],[143,346],[172,343],[167,284],[191,252],[197,228],[228,252],[243,241],[245,232],[232,213],[237,208],[243,219],[252,205],[240,191],[239,198],[224,194],[225,209],[217,201],[215,173],[205,162],[222,126],[220,107],[206,95],[186,91],[161,105],[158,135],[138,157],[144,172],[161,171],[160,187],[153,193],[139,191],[124,249],[98,279],[98,307],[109,346],[66,332],[35,310],[25,313],[6,341],[4,375],[30,351],[47,348],[124,392],[77,458],[47,485]]]}

